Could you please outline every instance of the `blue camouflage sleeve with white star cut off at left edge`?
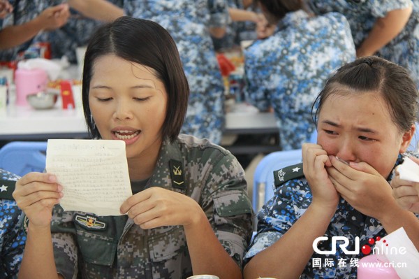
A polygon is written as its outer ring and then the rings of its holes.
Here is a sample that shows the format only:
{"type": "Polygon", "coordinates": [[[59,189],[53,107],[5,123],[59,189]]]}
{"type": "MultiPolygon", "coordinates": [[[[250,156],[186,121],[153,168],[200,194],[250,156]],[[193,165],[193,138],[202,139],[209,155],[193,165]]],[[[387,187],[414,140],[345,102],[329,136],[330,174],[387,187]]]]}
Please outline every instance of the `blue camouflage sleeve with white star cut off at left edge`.
{"type": "Polygon", "coordinates": [[[26,242],[22,211],[12,196],[19,178],[0,169],[0,278],[17,278],[26,242]]]}

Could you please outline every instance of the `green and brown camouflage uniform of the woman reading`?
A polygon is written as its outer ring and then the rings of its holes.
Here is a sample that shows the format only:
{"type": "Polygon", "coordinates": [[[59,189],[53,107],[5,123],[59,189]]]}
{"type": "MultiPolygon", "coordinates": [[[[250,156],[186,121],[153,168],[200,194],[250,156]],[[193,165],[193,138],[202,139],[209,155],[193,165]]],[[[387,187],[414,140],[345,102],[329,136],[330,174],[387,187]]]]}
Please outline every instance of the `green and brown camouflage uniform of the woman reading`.
{"type": "MultiPolygon", "coordinates": [[[[154,174],[133,192],[157,186],[190,196],[239,266],[252,234],[244,171],[227,150],[181,135],[163,143],[154,174]]],[[[192,275],[182,226],[141,229],[126,215],[97,216],[56,206],[52,239],[64,278],[187,278],[192,275]]],[[[203,239],[205,241],[205,239],[203,239]]]]}

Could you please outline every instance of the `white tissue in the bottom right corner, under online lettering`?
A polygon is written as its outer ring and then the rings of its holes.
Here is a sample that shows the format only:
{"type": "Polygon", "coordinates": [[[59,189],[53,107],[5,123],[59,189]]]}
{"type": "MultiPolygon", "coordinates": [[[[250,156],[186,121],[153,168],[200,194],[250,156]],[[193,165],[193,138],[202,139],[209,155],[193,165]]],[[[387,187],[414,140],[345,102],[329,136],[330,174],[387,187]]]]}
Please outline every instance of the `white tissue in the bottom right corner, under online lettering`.
{"type": "Polygon", "coordinates": [[[391,264],[401,279],[419,278],[419,252],[403,227],[377,241],[374,254],[391,264]]]}

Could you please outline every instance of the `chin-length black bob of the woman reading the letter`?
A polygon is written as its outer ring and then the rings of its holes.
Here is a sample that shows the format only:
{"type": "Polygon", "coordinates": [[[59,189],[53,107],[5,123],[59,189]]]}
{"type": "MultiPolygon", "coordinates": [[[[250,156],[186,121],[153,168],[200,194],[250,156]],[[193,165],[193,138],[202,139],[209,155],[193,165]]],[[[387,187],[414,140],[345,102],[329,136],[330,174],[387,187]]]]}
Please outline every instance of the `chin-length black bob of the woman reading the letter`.
{"type": "Polygon", "coordinates": [[[93,34],[84,55],[82,79],[84,118],[92,138],[101,138],[101,135],[91,117],[89,86],[94,63],[103,55],[116,55],[154,69],[168,94],[162,136],[174,141],[186,115],[189,85],[175,41],[168,31],[156,22],[124,16],[104,24],[93,34]]]}

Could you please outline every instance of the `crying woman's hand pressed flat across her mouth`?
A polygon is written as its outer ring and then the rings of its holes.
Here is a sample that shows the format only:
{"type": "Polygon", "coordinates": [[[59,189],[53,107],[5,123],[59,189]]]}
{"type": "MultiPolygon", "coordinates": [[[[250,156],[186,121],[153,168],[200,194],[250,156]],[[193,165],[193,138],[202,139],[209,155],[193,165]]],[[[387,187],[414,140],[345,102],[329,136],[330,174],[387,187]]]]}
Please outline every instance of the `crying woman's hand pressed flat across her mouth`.
{"type": "Polygon", "coordinates": [[[372,166],[365,162],[348,165],[334,156],[330,156],[330,162],[332,166],[327,168],[330,180],[356,210],[381,220],[391,210],[389,205],[396,206],[390,185],[372,166]]]}

